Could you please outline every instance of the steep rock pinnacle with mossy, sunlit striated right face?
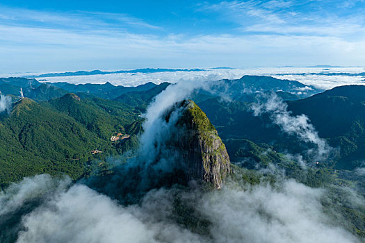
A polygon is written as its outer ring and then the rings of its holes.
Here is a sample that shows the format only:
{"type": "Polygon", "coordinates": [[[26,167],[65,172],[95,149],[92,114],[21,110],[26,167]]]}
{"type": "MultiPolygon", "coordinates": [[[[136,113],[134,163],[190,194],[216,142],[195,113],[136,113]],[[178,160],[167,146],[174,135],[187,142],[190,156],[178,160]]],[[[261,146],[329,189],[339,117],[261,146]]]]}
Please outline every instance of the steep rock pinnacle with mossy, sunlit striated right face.
{"type": "MultiPolygon", "coordinates": [[[[174,109],[182,112],[171,143],[175,147],[177,167],[184,172],[187,181],[206,181],[220,188],[231,167],[216,128],[193,101],[177,103],[174,109]]],[[[169,114],[165,119],[170,118],[169,114]]]]}

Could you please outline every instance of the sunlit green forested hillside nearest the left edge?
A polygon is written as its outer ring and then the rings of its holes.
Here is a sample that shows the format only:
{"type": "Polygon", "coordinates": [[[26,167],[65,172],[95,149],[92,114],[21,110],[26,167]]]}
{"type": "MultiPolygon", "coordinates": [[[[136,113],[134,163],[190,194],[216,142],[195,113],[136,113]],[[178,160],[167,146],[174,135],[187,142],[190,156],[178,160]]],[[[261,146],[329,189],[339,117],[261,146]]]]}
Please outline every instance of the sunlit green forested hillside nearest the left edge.
{"type": "Polygon", "coordinates": [[[72,117],[23,99],[0,121],[0,184],[33,174],[83,174],[90,151],[102,144],[72,117]]]}

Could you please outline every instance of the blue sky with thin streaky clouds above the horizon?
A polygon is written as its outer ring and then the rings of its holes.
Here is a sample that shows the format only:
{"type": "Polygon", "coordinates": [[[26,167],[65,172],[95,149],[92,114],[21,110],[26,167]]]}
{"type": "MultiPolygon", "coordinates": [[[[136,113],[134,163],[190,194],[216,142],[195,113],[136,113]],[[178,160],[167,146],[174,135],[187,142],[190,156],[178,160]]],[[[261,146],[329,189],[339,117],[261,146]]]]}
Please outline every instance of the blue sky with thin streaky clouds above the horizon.
{"type": "Polygon", "coordinates": [[[364,1],[0,1],[0,72],[365,65],[364,1]]]}

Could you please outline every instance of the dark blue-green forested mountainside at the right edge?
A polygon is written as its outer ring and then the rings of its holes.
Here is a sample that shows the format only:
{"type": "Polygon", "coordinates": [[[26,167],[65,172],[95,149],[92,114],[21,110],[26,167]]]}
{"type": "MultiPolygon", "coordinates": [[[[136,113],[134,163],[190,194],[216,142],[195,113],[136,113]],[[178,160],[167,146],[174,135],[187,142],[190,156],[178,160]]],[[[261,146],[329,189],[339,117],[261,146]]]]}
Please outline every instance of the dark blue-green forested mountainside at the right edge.
{"type": "Polygon", "coordinates": [[[365,159],[365,86],[334,87],[288,104],[293,115],[307,115],[318,134],[341,150],[338,167],[361,165],[365,159]]]}

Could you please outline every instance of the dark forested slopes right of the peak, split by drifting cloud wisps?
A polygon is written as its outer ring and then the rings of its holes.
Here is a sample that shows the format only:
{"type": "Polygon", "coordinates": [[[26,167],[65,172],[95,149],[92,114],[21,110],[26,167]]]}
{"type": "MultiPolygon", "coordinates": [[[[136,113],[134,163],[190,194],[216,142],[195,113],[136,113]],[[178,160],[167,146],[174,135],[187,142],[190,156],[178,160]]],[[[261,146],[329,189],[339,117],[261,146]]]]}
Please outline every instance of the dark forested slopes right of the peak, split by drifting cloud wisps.
{"type": "MultiPolygon", "coordinates": [[[[335,87],[307,99],[287,101],[292,115],[305,114],[318,135],[339,149],[336,167],[353,169],[365,159],[365,87],[335,87]]],[[[299,153],[305,146],[297,138],[283,133],[268,115],[255,117],[251,104],[243,101],[222,101],[218,98],[198,103],[227,139],[245,138],[256,143],[273,144],[277,151],[299,153]]],[[[228,146],[229,147],[229,146],[228,146]]]]}

